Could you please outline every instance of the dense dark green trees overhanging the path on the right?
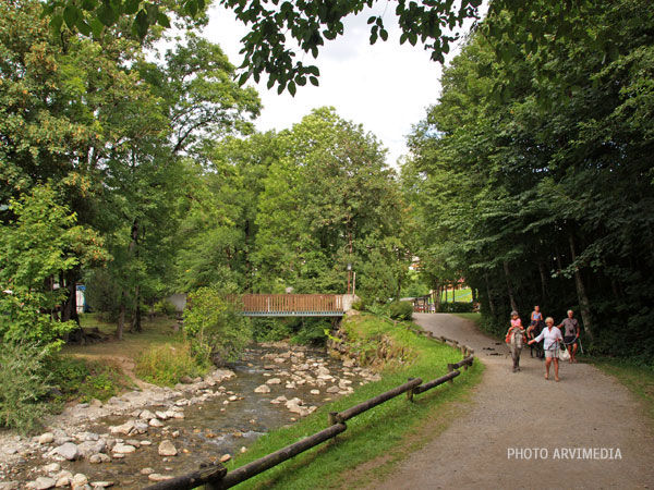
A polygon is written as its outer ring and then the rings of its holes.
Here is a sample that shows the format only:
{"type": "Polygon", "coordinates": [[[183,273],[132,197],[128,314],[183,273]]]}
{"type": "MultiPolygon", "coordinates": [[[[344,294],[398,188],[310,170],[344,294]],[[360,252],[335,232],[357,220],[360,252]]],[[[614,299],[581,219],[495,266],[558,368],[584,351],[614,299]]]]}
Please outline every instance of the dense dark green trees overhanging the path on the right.
{"type": "MultiPolygon", "coordinates": [[[[533,3],[538,24],[560,13],[533,3]]],[[[571,308],[590,352],[652,358],[654,139],[643,117],[654,110],[654,14],[641,0],[592,2],[557,22],[583,24],[585,40],[507,51],[485,34],[532,32],[522,14],[495,12],[445,71],[403,170],[417,255],[433,289],[465,279],[489,330],[506,330],[512,309],[529,318],[538,304],[560,320],[571,308]]]]}

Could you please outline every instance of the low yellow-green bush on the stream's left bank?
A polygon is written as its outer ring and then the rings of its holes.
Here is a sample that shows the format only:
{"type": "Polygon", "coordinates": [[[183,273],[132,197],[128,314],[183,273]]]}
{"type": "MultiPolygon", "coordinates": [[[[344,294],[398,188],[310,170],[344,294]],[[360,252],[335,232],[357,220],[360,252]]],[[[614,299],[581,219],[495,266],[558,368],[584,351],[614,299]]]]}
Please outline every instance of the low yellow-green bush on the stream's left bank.
{"type": "Polygon", "coordinates": [[[174,387],[184,376],[195,378],[207,371],[191,354],[191,344],[157,345],[136,359],[136,376],[160,387],[174,387]]]}

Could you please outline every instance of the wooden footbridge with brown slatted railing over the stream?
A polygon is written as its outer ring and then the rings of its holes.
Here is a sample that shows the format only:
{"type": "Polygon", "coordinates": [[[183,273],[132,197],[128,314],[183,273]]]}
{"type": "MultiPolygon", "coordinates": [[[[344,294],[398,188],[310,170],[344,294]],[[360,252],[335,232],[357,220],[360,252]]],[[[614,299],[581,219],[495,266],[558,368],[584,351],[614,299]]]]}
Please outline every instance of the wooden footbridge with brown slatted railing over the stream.
{"type": "Polygon", "coordinates": [[[244,294],[232,296],[246,317],[342,317],[351,294],[244,294]]]}

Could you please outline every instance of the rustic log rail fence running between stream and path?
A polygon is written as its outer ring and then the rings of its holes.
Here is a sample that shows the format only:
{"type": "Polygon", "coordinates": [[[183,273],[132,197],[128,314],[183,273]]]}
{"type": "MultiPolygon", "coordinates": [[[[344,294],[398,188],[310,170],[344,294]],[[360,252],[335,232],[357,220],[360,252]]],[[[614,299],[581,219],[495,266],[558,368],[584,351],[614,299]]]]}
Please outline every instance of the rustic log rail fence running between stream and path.
{"type": "Polygon", "coordinates": [[[451,345],[456,348],[459,348],[463,354],[463,359],[459,360],[456,364],[448,364],[447,369],[448,373],[441,376],[440,378],[436,378],[432,381],[427,381],[423,384],[423,380],[421,378],[409,379],[403,384],[400,384],[392,390],[389,390],[385,393],[382,393],[373,399],[366,400],[365,402],[360,403],[359,405],[354,405],[348,409],[342,412],[331,412],[329,413],[328,424],[324,430],[320,430],[313,436],[308,436],[301,441],[298,441],[293,444],[287,445],[286,448],[280,449],[267,456],[261,457],[256,461],[247,463],[240,468],[233,469],[232,471],[227,471],[227,468],[221,464],[213,464],[210,466],[205,466],[201,468],[198,471],[193,471],[170,480],[160,481],[156,485],[152,485],[146,487],[146,490],[186,490],[199,487],[202,485],[209,490],[218,490],[218,489],[227,489],[234,487],[261,473],[264,473],[267,469],[270,469],[274,466],[277,466],[284,461],[290,460],[293,456],[296,456],[304,451],[307,451],[312,448],[315,448],[318,444],[322,444],[329,439],[335,438],[341,432],[347,430],[346,421],[356,415],[363,414],[371,408],[387,402],[396,396],[401,395],[402,393],[407,393],[407,400],[413,401],[413,396],[420,393],[424,393],[432,388],[436,388],[446,382],[453,382],[455,378],[461,375],[459,369],[463,368],[468,369],[469,366],[472,366],[474,360],[474,350],[469,347],[468,345],[459,344],[457,341],[446,339],[444,336],[435,338],[432,332],[423,332],[425,335],[440,340],[448,345],[451,345]]]}

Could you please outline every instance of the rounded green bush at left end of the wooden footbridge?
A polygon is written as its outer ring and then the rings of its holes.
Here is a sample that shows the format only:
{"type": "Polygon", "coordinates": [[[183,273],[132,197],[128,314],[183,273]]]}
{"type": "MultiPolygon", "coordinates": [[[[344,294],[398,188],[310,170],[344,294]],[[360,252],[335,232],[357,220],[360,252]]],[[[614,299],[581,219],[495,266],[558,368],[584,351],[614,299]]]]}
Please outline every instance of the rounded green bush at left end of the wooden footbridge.
{"type": "Polygon", "coordinates": [[[191,340],[192,355],[204,365],[215,356],[234,360],[252,340],[250,320],[238,315],[225,294],[213,287],[201,287],[189,295],[184,331],[191,340]]]}

